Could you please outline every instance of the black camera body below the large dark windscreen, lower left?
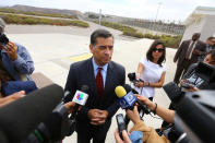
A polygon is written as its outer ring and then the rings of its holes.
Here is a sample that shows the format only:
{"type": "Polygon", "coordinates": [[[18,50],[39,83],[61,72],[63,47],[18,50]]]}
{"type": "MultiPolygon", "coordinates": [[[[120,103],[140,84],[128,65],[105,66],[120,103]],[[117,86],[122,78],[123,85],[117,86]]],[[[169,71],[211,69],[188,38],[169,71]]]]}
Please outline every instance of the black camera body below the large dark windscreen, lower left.
{"type": "Polygon", "coordinates": [[[52,143],[61,141],[64,136],[71,135],[73,122],[69,119],[68,109],[63,103],[59,104],[49,118],[39,123],[33,133],[22,143],[52,143]]]}

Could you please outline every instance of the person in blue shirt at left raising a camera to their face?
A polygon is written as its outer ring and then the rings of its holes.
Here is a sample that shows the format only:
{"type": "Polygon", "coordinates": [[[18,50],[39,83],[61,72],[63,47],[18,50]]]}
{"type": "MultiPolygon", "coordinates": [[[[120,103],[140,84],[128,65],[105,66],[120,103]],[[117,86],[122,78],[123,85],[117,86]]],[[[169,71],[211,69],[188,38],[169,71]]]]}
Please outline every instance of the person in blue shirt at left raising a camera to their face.
{"type": "Polygon", "coordinates": [[[0,19],[0,95],[8,96],[19,91],[37,90],[31,79],[34,62],[27,49],[12,43],[4,34],[5,23],[0,19]]]}

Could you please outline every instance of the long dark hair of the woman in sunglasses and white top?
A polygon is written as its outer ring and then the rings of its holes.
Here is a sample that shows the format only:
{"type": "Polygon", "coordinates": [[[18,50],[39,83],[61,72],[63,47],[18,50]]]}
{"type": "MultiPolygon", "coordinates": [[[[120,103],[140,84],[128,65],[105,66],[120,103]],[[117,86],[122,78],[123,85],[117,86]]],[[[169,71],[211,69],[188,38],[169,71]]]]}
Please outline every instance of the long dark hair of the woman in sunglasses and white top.
{"type": "Polygon", "coordinates": [[[162,63],[164,61],[166,61],[166,47],[165,47],[165,44],[162,40],[155,40],[151,45],[150,49],[147,50],[146,58],[147,58],[147,60],[150,60],[150,61],[153,62],[153,50],[157,47],[157,45],[162,45],[163,48],[164,48],[163,55],[162,55],[162,57],[157,61],[157,64],[159,64],[162,67],[162,63]]]}

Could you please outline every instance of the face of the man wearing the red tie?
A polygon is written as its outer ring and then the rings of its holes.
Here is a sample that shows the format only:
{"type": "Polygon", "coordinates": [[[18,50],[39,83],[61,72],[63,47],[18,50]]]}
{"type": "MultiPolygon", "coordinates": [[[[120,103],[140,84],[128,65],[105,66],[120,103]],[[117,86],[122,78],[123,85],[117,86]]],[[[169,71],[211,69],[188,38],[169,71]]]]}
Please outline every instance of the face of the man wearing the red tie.
{"type": "Polygon", "coordinates": [[[96,45],[89,45],[91,52],[98,65],[105,65],[111,60],[114,52],[114,39],[112,37],[97,37],[96,41],[96,45]]]}

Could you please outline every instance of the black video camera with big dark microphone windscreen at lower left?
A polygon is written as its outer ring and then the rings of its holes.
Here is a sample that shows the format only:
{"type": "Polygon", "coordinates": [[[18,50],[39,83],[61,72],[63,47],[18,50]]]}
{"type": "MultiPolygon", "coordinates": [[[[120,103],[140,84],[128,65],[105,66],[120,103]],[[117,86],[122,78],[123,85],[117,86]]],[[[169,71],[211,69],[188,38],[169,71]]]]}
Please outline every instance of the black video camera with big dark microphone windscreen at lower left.
{"type": "Polygon", "coordinates": [[[62,98],[62,87],[52,84],[1,107],[0,142],[52,143],[70,135],[74,123],[62,98]]]}

